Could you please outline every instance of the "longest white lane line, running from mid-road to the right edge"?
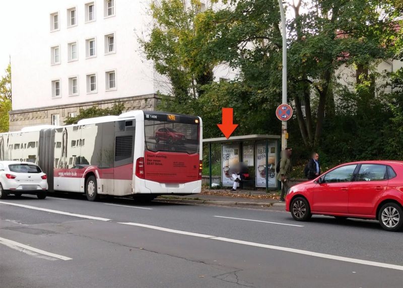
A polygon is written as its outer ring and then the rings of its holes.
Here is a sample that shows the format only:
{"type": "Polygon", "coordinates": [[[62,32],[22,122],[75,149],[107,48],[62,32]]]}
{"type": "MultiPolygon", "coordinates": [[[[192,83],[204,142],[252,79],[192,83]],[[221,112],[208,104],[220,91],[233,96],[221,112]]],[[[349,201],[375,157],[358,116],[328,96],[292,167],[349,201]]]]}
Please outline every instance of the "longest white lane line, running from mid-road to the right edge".
{"type": "Polygon", "coordinates": [[[211,240],[219,240],[219,241],[231,242],[231,243],[236,243],[236,244],[260,247],[260,248],[265,248],[265,249],[272,249],[272,250],[279,250],[279,251],[297,253],[297,254],[313,256],[313,257],[318,257],[318,258],[325,258],[325,259],[330,259],[330,260],[338,260],[338,261],[343,261],[343,262],[350,262],[350,263],[355,263],[355,264],[362,264],[362,265],[375,266],[375,267],[381,267],[381,268],[388,268],[388,269],[395,269],[395,270],[402,270],[403,271],[403,266],[401,266],[401,265],[394,265],[394,264],[388,264],[388,263],[382,263],[382,262],[374,262],[374,261],[368,261],[368,260],[362,260],[362,259],[356,259],[356,258],[336,256],[336,255],[331,255],[331,254],[323,254],[323,253],[312,252],[312,251],[307,251],[307,250],[300,250],[300,249],[294,249],[294,248],[288,248],[288,247],[281,247],[281,246],[267,245],[267,244],[261,244],[261,243],[255,243],[255,242],[236,240],[236,239],[216,237],[216,236],[210,236],[210,235],[205,235],[205,234],[198,234],[198,233],[193,233],[193,232],[174,230],[174,229],[169,229],[169,228],[164,228],[164,227],[159,227],[159,226],[146,225],[146,224],[140,224],[140,223],[118,222],[118,224],[140,226],[140,227],[156,229],[156,230],[160,230],[160,231],[164,231],[164,232],[183,234],[183,235],[207,238],[207,239],[211,239],[211,240]]]}

